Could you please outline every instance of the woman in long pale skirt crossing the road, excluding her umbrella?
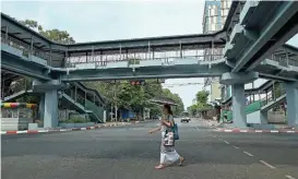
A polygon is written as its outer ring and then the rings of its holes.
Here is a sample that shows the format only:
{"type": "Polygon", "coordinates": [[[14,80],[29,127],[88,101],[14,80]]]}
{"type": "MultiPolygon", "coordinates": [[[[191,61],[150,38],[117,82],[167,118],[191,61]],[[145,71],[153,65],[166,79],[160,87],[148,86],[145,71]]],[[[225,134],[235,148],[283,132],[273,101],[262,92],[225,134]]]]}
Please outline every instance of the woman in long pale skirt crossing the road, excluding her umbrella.
{"type": "Polygon", "coordinates": [[[181,157],[174,146],[165,145],[166,132],[174,132],[174,117],[169,105],[164,105],[164,117],[160,120],[160,126],[156,129],[150,130],[150,133],[162,131],[162,146],[160,146],[160,163],[155,166],[156,169],[165,168],[167,165],[171,165],[179,160],[179,166],[182,165],[184,158],[181,157]]]}

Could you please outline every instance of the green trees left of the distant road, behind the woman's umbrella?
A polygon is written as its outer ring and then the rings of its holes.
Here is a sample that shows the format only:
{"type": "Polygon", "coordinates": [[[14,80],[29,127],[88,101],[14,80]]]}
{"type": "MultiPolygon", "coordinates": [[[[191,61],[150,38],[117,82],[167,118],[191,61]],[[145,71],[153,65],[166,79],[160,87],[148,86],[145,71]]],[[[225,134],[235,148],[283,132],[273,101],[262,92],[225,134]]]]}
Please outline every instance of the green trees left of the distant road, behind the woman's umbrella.
{"type": "Polygon", "coordinates": [[[183,111],[182,99],[177,94],[172,94],[168,88],[162,87],[162,84],[156,80],[146,80],[145,85],[131,85],[129,81],[121,81],[121,84],[117,84],[116,98],[115,98],[115,84],[106,82],[86,82],[87,87],[97,90],[102,95],[106,96],[108,106],[117,103],[118,108],[131,109],[135,112],[142,111],[142,109],[150,108],[151,115],[160,115],[162,107],[155,104],[148,103],[154,97],[168,97],[175,100],[179,106],[172,108],[175,115],[183,111]]]}

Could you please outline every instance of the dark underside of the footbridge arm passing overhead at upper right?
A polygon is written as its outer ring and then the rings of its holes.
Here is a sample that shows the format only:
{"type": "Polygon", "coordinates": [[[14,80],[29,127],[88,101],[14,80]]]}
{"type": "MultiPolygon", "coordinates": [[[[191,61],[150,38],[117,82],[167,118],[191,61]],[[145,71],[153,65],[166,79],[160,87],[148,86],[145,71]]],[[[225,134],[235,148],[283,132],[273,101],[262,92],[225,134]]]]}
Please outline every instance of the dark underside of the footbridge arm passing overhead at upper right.
{"type": "Polygon", "coordinates": [[[224,48],[231,71],[251,71],[272,53],[278,56],[278,48],[298,33],[297,24],[298,2],[247,1],[224,48]]]}

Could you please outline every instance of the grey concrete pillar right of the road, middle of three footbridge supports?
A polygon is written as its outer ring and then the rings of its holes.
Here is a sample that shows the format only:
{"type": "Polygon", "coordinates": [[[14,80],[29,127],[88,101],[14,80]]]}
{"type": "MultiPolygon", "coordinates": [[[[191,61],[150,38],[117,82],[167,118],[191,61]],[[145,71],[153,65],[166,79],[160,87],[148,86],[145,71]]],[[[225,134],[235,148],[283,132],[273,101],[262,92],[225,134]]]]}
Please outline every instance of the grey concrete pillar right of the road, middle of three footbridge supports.
{"type": "Polygon", "coordinates": [[[233,84],[233,123],[237,128],[247,128],[245,84],[233,84]]]}

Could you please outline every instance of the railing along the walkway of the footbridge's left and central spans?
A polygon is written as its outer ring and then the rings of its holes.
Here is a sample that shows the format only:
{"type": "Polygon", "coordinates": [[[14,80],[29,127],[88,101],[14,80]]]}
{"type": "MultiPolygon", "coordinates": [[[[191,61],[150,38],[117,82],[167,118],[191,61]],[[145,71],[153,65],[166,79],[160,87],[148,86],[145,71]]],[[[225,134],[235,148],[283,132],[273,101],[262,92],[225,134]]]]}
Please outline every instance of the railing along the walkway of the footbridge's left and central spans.
{"type": "Polygon", "coordinates": [[[49,49],[43,50],[38,49],[33,44],[28,45],[20,39],[8,36],[5,38],[5,34],[1,33],[1,43],[7,44],[11,47],[14,47],[23,52],[24,57],[28,57],[29,55],[38,57],[47,61],[47,64],[51,65],[53,60],[64,60],[64,65],[68,68],[73,68],[75,64],[82,63],[95,63],[96,65],[107,65],[110,62],[119,62],[119,61],[129,61],[132,64],[138,63],[141,60],[170,60],[170,59],[186,59],[186,58],[194,58],[198,61],[213,61],[223,58],[223,47],[218,48],[203,48],[201,46],[191,47],[191,49],[183,49],[182,46],[175,47],[169,50],[151,50],[148,46],[147,52],[138,51],[138,50],[127,50],[123,52],[121,47],[117,51],[109,51],[108,53],[103,53],[102,51],[90,51],[87,53],[75,53],[68,51],[50,51],[49,49]]]}

